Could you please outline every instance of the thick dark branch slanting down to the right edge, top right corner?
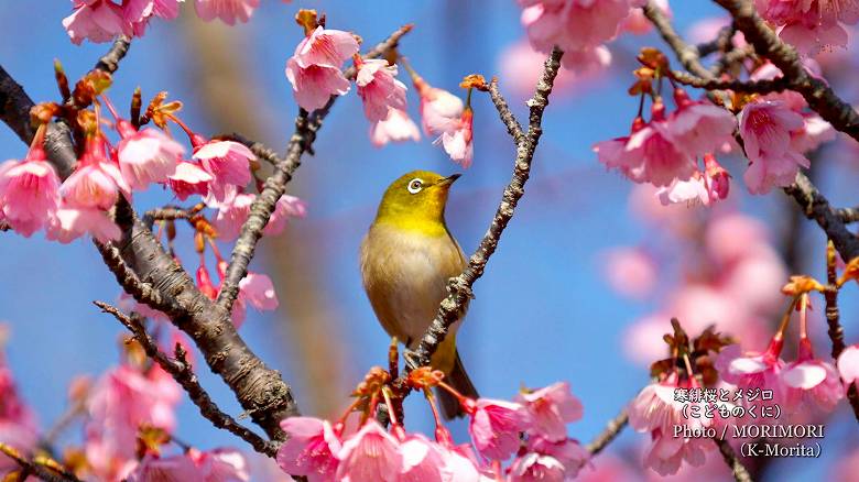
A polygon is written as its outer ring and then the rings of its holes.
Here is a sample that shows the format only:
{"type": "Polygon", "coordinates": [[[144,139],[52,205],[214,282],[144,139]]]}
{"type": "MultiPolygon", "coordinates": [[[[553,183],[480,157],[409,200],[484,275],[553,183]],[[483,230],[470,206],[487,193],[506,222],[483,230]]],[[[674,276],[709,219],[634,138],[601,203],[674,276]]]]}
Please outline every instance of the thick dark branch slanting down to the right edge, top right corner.
{"type": "Polygon", "coordinates": [[[772,61],[782,70],[789,79],[791,90],[802,94],[808,106],[835,129],[859,141],[859,113],[841,100],[825,81],[808,74],[796,51],[779,40],[775,32],[758,15],[751,1],[715,1],[731,14],[737,28],[746,40],[754,45],[758,54],[772,61]]]}

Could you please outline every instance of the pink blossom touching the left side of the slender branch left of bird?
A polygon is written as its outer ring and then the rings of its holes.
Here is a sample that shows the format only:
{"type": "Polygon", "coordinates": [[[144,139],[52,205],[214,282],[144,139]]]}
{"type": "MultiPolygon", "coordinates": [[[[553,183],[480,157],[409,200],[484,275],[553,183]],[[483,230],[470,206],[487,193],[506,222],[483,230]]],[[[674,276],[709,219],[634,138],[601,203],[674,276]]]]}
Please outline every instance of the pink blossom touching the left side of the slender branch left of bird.
{"type": "Polygon", "coordinates": [[[215,199],[224,200],[230,185],[244,187],[250,183],[250,162],[257,156],[248,146],[235,141],[205,141],[196,136],[193,143],[194,158],[211,175],[209,194],[215,199]]]}

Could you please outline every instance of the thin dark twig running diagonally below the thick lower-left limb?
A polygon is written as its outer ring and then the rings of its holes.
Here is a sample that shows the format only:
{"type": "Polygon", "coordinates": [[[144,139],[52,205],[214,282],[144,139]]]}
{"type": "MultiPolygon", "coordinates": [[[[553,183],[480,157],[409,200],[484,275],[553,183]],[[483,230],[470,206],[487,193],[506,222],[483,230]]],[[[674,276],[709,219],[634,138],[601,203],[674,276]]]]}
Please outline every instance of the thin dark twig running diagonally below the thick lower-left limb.
{"type": "Polygon", "coordinates": [[[182,344],[176,343],[175,359],[171,359],[159,350],[157,342],[146,332],[145,327],[139,319],[126,315],[107,303],[94,302],[94,304],[101,308],[102,311],[113,315],[119,322],[134,335],[134,339],[143,347],[146,355],[173,376],[188,394],[194,405],[199,408],[200,415],[211,421],[215,427],[222,428],[240,437],[262,454],[273,457],[276,453],[276,443],[265,441],[262,437],[240,425],[235,418],[218,408],[206,390],[199,384],[197,375],[194,374],[191,364],[187,362],[186,352],[182,344]]]}

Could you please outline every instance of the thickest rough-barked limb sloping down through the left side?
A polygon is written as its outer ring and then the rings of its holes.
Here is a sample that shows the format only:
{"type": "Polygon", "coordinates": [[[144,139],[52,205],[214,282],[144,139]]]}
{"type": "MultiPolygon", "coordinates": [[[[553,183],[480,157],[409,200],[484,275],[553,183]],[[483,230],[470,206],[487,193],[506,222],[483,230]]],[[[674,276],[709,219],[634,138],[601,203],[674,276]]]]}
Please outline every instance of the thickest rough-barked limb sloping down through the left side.
{"type": "MultiPolygon", "coordinates": [[[[25,113],[33,102],[2,68],[0,101],[2,120],[29,143],[34,131],[29,127],[30,118],[25,113]]],[[[68,128],[52,123],[45,149],[61,176],[69,175],[76,155],[68,128]]],[[[191,276],[162,250],[131,207],[121,201],[115,210],[122,239],[99,249],[106,260],[111,260],[108,264],[117,281],[138,302],[160,309],[188,333],[211,371],[232,390],[253,421],[270,437],[282,439],[280,420],[298,413],[290,386],[278,371],[265,366],[250,350],[236,332],[228,314],[217,309],[197,289],[191,276]]]]}

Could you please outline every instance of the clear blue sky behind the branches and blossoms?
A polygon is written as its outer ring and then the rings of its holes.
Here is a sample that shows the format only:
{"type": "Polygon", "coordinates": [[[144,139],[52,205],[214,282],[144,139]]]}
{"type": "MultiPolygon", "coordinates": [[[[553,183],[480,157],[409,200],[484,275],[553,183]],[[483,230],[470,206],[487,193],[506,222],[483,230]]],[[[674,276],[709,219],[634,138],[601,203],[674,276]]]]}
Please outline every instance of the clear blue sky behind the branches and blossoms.
{"type": "MultiPolygon", "coordinates": [[[[107,45],[75,46],[68,41],[59,22],[70,11],[69,4],[44,0],[39,15],[33,15],[29,2],[0,3],[0,31],[4,32],[0,64],[36,100],[56,99],[54,58],[61,59],[69,77],[75,78],[106,51],[107,45]]],[[[242,39],[242,62],[254,79],[252,92],[237,95],[264,101],[262,138],[279,150],[285,145],[296,112],[283,66],[301,37],[292,21],[300,7],[325,11],[329,28],[355,31],[370,44],[401,24],[416,23],[414,32],[402,42],[402,52],[431,84],[454,91],[466,74],[497,75],[501,51],[524,34],[513,1],[263,2],[249,24],[237,28],[242,39]]],[[[673,8],[681,31],[696,19],[718,13],[707,1],[675,1],[673,8]]],[[[191,17],[189,22],[198,22],[191,17]]],[[[612,51],[616,57],[624,58],[645,44],[662,46],[655,36],[626,37],[612,44],[612,51]]],[[[192,56],[180,23],[153,22],[146,35],[134,41],[115,77],[113,101],[124,105],[138,85],[144,96],[168,90],[172,98],[185,103],[183,119],[196,130],[214,134],[204,116],[205,99],[195,87],[192,56]]],[[[631,65],[613,68],[615,75],[599,85],[553,100],[546,110],[526,195],[486,275],[475,286],[477,298],[459,336],[460,352],[486,396],[510,397],[522,385],[569,381],[585,404],[585,418],[572,426],[572,435],[581,440],[600,431],[606,420],[646,383],[646,370],[624,358],[620,335],[628,324],[655,306],[653,300],[637,303],[615,295],[600,277],[598,255],[604,249],[633,244],[648,235],[629,213],[630,184],[606,173],[590,151],[595,142],[622,134],[637,107],[637,101],[626,95],[630,78],[624,73],[631,65]]],[[[500,84],[504,90],[503,78],[500,84]]],[[[525,119],[524,105],[512,97],[510,100],[514,112],[525,119]]],[[[413,92],[410,102],[416,114],[413,92]]],[[[488,227],[509,180],[514,154],[488,97],[476,95],[474,108],[474,166],[464,172],[448,207],[450,230],[467,253],[474,251],[488,227]]],[[[307,194],[309,213],[287,229],[309,230],[319,241],[308,255],[318,256],[312,262],[324,270],[319,275],[326,280],[326,299],[345,314],[337,320],[339,338],[347,340],[351,358],[344,370],[356,383],[366,369],[382,364],[387,353],[388,339],[365,297],[357,263],[358,245],[381,193],[407,171],[463,172],[431,141],[372,147],[360,101],[352,92],[337,101],[319,133],[316,155],[306,157],[296,174],[295,189],[307,194]]],[[[21,157],[24,152],[25,146],[11,131],[0,129],[0,157],[21,157]]],[[[836,197],[844,196],[848,202],[846,196],[853,180],[852,175],[830,175],[825,187],[831,187],[836,197]]],[[[752,199],[741,189],[735,184],[739,205],[764,219],[771,229],[780,229],[774,212],[782,195],[752,199]]],[[[167,201],[160,189],[152,189],[137,197],[135,207],[143,210],[167,201]]],[[[262,245],[267,247],[264,240],[262,245]]],[[[809,234],[807,245],[819,250],[816,231],[809,234]]],[[[187,243],[182,247],[187,248],[187,243]]],[[[278,255],[264,250],[252,267],[267,272],[267,260],[278,255]]],[[[0,291],[0,320],[12,327],[10,362],[24,397],[35,406],[43,424],[50,425],[64,409],[66,387],[74,375],[98,374],[117,361],[117,339],[123,330],[90,302],[116,299],[118,287],[96,250],[83,240],[58,245],[39,234],[33,239],[2,234],[0,272],[7,273],[8,280],[0,291]]],[[[290,347],[280,344],[283,338],[271,336],[280,330],[279,322],[289,324],[289,314],[250,314],[241,332],[267,363],[281,370],[287,381],[297,381],[300,406],[304,413],[314,414],[303,395],[304,384],[312,381],[303,380],[302,366],[291,363],[290,347]]],[[[221,406],[232,414],[240,413],[220,381],[205,369],[200,372],[221,406]]],[[[409,424],[426,429],[422,402],[413,398],[410,406],[415,415],[409,424]]],[[[347,403],[345,388],[341,405],[347,403]]],[[[189,403],[181,407],[180,418],[178,434],[184,440],[203,448],[241,446],[231,435],[211,428],[189,403]]],[[[457,424],[455,428],[464,437],[464,426],[457,424]]],[[[68,438],[78,434],[72,430],[68,438]]],[[[626,434],[623,441],[637,437],[626,434]]],[[[802,463],[802,470],[816,471],[828,462],[802,463]]]]}

